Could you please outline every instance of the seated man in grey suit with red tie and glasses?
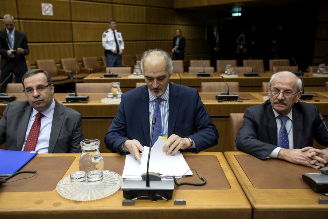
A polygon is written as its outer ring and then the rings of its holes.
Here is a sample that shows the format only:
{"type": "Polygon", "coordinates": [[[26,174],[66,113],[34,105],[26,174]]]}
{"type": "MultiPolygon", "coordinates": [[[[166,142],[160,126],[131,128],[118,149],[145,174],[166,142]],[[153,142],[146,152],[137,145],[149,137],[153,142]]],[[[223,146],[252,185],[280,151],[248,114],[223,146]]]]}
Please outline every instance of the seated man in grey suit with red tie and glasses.
{"type": "Polygon", "coordinates": [[[81,153],[80,142],[84,139],[81,114],[53,99],[50,75],[32,69],[24,74],[22,83],[28,100],[7,105],[0,120],[0,145],[6,142],[7,150],[81,153]],[[29,144],[33,142],[30,139],[37,121],[39,133],[36,132],[33,147],[29,144]]]}

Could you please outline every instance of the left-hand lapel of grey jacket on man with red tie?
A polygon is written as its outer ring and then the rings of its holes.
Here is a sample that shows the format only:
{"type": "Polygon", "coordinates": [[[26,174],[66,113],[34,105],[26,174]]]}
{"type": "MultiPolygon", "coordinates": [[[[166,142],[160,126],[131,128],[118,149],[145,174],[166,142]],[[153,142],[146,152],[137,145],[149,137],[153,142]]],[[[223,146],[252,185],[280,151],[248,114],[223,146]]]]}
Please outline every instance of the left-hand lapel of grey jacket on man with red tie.
{"type": "Polygon", "coordinates": [[[32,107],[29,104],[27,107],[24,108],[24,111],[22,111],[19,115],[19,121],[18,121],[18,128],[17,128],[17,150],[22,150],[27,126],[29,125],[30,117],[31,117],[32,107]]]}

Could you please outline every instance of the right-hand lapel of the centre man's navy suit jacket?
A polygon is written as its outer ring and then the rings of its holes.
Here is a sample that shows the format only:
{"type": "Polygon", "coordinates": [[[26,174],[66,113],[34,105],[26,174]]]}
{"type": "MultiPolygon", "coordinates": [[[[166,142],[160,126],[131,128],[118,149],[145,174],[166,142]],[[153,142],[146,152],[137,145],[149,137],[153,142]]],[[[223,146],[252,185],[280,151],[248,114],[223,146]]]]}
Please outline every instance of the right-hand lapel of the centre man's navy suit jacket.
{"type": "Polygon", "coordinates": [[[180,105],[180,100],[177,99],[179,95],[178,92],[174,89],[172,83],[169,83],[169,124],[168,124],[168,136],[170,137],[173,134],[175,120],[178,115],[178,109],[180,105]]]}

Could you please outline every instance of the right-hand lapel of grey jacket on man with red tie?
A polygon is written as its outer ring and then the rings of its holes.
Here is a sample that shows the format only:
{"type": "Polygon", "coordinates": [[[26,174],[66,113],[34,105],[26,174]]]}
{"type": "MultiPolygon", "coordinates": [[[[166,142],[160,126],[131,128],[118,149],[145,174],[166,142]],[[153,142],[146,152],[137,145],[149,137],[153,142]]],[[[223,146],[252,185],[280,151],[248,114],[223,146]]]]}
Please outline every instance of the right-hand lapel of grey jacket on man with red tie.
{"type": "Polygon", "coordinates": [[[63,125],[64,121],[64,111],[61,108],[60,104],[55,101],[55,109],[53,111],[53,118],[52,118],[52,124],[51,124],[51,133],[50,133],[50,139],[49,139],[49,148],[48,148],[48,153],[52,153],[55,144],[57,142],[60,130],[63,125]]]}

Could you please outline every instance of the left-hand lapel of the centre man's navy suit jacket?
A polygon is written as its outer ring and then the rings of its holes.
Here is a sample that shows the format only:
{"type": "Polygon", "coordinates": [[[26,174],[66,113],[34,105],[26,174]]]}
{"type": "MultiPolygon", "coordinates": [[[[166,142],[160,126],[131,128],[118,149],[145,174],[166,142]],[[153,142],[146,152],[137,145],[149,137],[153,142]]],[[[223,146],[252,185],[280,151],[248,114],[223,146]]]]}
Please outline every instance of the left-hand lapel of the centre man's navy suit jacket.
{"type": "Polygon", "coordinates": [[[150,145],[150,127],[149,127],[150,124],[149,124],[149,95],[148,95],[147,86],[141,89],[140,99],[141,101],[138,103],[138,109],[141,118],[141,126],[147,142],[146,146],[148,146],[150,145]]]}

